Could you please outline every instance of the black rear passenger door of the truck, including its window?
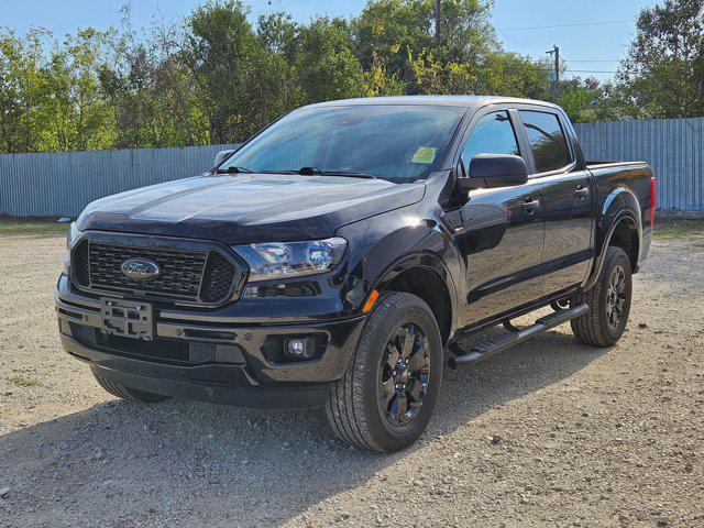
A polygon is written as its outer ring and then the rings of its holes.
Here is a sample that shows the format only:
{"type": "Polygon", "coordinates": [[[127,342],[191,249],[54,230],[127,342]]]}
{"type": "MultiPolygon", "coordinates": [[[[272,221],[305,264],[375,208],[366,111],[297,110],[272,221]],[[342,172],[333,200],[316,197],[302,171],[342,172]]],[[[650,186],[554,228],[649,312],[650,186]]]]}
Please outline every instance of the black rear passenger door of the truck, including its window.
{"type": "Polygon", "coordinates": [[[592,251],[594,187],[581,167],[564,116],[550,107],[518,112],[532,155],[530,179],[543,199],[546,242],[543,295],[569,289],[585,279],[592,251]]]}

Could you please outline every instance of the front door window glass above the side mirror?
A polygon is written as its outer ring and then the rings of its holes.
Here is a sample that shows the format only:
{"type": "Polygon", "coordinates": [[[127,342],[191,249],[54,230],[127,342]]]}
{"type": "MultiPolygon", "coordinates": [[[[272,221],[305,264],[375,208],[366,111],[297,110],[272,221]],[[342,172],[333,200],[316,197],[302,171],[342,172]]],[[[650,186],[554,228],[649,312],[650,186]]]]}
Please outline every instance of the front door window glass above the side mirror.
{"type": "Polygon", "coordinates": [[[462,163],[465,169],[469,170],[470,162],[477,154],[519,155],[518,142],[508,113],[487,113],[474,125],[462,151],[462,163]]]}

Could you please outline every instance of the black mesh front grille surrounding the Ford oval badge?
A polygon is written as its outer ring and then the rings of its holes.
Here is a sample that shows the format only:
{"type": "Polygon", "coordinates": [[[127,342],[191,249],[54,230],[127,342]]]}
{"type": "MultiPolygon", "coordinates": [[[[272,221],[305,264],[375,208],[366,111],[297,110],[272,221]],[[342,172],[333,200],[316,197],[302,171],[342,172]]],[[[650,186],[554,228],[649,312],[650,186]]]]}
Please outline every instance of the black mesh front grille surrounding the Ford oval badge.
{"type": "Polygon", "coordinates": [[[217,305],[233,296],[243,266],[219,249],[204,244],[187,244],[183,250],[173,244],[145,248],[88,237],[72,252],[73,276],[79,287],[98,293],[125,292],[145,298],[217,305]],[[122,274],[122,264],[130,258],[152,261],[161,273],[148,280],[129,278],[122,274]]]}

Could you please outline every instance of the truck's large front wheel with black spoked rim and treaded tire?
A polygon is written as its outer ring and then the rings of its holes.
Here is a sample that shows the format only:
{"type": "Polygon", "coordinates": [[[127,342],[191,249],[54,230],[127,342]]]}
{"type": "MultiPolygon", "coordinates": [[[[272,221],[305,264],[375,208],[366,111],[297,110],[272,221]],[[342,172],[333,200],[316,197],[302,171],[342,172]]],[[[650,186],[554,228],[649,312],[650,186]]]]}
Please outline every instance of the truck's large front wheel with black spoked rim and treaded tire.
{"type": "Polygon", "coordinates": [[[330,388],[326,415],[332,430],[341,440],[372,451],[410,446],[435,410],[442,363],[440,330],[428,305],[407,293],[383,294],[344,376],[330,388]]]}

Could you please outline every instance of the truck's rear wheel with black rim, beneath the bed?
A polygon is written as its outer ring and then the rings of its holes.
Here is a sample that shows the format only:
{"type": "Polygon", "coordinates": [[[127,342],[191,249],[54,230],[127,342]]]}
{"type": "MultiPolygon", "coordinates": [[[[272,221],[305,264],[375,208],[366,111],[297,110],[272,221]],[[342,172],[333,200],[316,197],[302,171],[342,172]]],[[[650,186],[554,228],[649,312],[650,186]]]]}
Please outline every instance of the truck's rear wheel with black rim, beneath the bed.
{"type": "Polygon", "coordinates": [[[626,330],[631,294],[630,261],[624,250],[609,246],[606,250],[604,265],[594,287],[576,295],[575,302],[578,305],[586,302],[590,307],[590,311],[584,316],[571,321],[572,332],[574,332],[576,340],[584,344],[602,348],[616,344],[626,330]],[[612,282],[615,276],[618,277],[614,285],[612,282]]]}

